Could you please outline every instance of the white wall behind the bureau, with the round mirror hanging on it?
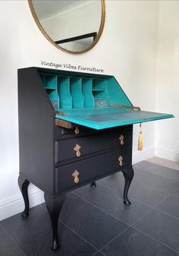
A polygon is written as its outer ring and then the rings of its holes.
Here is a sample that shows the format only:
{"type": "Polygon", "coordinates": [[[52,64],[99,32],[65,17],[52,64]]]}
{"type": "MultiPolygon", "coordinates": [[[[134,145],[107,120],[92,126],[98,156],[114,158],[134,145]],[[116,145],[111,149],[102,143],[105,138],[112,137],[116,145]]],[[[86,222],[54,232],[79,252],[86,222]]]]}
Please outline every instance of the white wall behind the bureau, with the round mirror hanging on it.
{"type": "MultiPolygon", "coordinates": [[[[99,43],[85,54],[69,55],[42,36],[27,1],[0,1],[0,220],[23,210],[17,187],[17,68],[40,66],[41,60],[103,68],[115,75],[133,105],[155,110],[158,14],[155,1],[106,1],[99,43]]],[[[134,161],[154,153],[154,124],[143,125],[143,153],[137,152],[138,131],[134,125],[134,161]]],[[[42,200],[42,193],[31,186],[30,205],[42,200]]]]}

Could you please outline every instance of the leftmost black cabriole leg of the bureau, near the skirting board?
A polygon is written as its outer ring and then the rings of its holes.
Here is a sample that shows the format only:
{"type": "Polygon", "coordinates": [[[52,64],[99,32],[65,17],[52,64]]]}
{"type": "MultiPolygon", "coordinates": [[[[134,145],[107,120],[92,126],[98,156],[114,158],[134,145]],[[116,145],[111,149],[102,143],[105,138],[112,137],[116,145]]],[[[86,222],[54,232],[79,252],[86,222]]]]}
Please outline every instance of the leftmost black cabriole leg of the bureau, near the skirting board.
{"type": "Polygon", "coordinates": [[[27,181],[27,179],[25,179],[23,175],[19,175],[18,185],[19,185],[20,191],[23,195],[24,204],[25,204],[25,209],[24,209],[24,212],[21,213],[21,216],[23,216],[24,218],[26,218],[29,215],[29,210],[30,210],[29,197],[28,197],[28,185],[29,184],[30,184],[30,182],[27,181]]]}

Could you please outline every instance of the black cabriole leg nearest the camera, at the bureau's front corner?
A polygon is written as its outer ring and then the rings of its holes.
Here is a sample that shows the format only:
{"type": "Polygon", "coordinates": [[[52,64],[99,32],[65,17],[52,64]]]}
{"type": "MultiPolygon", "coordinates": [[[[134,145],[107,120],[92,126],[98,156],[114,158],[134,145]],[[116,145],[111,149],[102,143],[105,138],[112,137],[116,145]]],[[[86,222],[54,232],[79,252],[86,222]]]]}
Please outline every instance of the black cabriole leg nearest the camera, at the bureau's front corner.
{"type": "Polygon", "coordinates": [[[50,196],[45,192],[44,198],[52,223],[53,238],[51,249],[57,250],[58,248],[60,248],[60,243],[58,242],[58,217],[61,212],[61,208],[64,204],[64,201],[66,199],[66,194],[61,194],[57,198],[54,198],[53,196],[50,196]]]}

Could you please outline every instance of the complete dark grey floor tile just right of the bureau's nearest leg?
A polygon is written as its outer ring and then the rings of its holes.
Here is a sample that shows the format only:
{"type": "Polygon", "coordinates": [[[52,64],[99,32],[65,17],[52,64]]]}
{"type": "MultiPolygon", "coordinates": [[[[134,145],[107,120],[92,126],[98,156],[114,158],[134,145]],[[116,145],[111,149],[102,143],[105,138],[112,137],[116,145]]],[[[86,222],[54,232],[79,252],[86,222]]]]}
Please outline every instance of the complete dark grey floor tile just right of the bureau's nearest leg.
{"type": "Polygon", "coordinates": [[[60,218],[62,223],[69,226],[96,248],[101,248],[128,227],[120,220],[116,220],[102,210],[81,200],[75,194],[68,194],[60,218]]]}

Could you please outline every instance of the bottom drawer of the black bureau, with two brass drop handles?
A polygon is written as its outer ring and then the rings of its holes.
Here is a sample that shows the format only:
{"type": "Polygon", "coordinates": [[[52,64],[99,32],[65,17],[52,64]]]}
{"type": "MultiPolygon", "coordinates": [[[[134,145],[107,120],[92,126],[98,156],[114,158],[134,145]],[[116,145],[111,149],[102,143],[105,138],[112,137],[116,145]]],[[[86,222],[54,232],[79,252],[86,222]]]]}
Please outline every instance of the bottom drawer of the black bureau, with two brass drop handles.
{"type": "Polygon", "coordinates": [[[127,169],[132,164],[132,147],[55,168],[55,192],[70,191],[86,182],[100,179],[110,172],[127,169]]]}

